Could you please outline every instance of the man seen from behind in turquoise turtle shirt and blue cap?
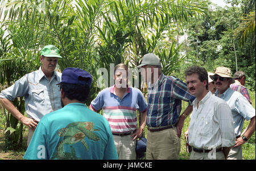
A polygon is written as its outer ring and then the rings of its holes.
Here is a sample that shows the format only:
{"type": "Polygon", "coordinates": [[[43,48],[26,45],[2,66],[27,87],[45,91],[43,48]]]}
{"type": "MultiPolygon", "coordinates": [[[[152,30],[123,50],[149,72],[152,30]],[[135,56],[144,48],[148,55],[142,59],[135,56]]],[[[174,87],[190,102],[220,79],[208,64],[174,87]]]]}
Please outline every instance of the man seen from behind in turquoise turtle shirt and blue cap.
{"type": "Polygon", "coordinates": [[[63,70],[60,110],[44,116],[24,159],[118,159],[108,121],[86,107],[92,76],[81,69],[63,70]]]}

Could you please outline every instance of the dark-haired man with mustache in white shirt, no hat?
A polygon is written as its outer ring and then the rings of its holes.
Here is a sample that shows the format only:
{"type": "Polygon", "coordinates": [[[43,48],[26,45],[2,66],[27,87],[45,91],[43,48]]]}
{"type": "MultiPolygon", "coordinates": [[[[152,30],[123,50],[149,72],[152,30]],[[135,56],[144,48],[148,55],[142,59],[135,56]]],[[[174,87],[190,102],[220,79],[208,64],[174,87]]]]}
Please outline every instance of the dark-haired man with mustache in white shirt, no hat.
{"type": "Polygon", "coordinates": [[[190,159],[224,160],[236,142],[231,110],[224,100],[208,91],[204,67],[189,67],[185,76],[189,92],[196,97],[188,131],[193,149],[190,159]]]}

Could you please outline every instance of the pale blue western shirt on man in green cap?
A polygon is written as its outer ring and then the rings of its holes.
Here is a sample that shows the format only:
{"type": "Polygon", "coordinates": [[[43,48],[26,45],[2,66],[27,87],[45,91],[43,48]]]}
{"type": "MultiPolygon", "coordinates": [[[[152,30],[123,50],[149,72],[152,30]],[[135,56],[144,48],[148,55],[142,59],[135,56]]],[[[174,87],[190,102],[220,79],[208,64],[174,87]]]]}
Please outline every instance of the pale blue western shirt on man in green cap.
{"type": "Polygon", "coordinates": [[[40,121],[44,115],[61,108],[60,89],[56,86],[60,81],[60,72],[54,71],[49,81],[41,66],[1,91],[0,98],[13,101],[16,97],[24,96],[28,116],[40,121]]]}

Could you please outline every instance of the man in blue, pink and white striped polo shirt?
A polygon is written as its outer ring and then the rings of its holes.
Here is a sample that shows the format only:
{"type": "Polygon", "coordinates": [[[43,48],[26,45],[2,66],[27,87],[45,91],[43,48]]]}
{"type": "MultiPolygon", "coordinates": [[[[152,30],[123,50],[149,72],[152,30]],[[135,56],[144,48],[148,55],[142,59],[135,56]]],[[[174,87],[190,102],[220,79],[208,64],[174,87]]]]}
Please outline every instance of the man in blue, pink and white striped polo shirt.
{"type": "Polygon", "coordinates": [[[90,104],[97,112],[103,109],[103,116],[109,121],[118,157],[121,160],[136,158],[136,139],[141,137],[146,126],[146,100],[138,88],[127,86],[128,67],[122,63],[115,66],[112,87],[103,89],[90,104]],[[137,128],[136,110],[142,112],[137,128]]]}

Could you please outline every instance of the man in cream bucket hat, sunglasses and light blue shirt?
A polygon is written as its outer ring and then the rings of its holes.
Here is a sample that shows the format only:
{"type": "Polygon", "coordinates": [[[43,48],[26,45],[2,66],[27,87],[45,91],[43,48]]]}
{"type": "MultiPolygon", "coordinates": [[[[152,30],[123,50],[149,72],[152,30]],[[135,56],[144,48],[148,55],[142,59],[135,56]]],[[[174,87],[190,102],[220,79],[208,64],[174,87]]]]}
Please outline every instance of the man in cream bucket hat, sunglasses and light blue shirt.
{"type": "Polygon", "coordinates": [[[215,96],[225,100],[232,110],[234,119],[234,131],[236,134],[236,144],[230,149],[228,159],[242,159],[242,144],[245,143],[255,132],[255,109],[249,101],[239,92],[234,91],[229,86],[234,83],[231,70],[226,67],[217,67],[214,75],[210,78],[215,82],[217,91],[215,96]],[[247,130],[241,134],[243,122],[250,120],[247,130]]]}

